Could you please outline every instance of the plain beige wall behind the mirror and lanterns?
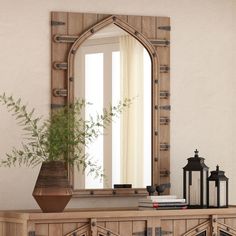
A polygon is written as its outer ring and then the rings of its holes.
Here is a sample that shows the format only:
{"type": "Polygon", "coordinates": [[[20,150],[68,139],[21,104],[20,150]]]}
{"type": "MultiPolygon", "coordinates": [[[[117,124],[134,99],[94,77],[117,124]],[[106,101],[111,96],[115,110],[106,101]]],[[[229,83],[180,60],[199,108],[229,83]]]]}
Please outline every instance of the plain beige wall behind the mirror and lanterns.
{"type": "MultiPolygon", "coordinates": [[[[50,11],[171,17],[171,179],[182,194],[182,167],[195,148],[230,178],[236,204],[235,0],[0,0],[0,92],[20,96],[39,114],[50,104],[50,11]],[[234,18],[234,19],[233,19],[234,18]],[[234,24],[234,25],[233,25],[234,24]],[[234,101],[235,100],[235,101],[234,101]]],[[[0,156],[21,142],[1,107],[0,156]]],[[[31,192],[38,168],[0,169],[0,209],[37,208],[31,192]]],[[[109,199],[113,206],[131,198],[109,199]]],[[[107,199],[73,200],[69,207],[107,206],[107,199]]]]}

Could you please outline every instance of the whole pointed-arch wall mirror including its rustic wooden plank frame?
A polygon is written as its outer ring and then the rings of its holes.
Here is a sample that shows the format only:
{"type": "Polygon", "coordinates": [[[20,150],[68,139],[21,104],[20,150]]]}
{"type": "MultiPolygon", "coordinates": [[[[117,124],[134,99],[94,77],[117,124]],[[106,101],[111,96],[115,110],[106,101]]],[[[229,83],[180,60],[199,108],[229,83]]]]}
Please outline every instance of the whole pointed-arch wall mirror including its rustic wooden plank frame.
{"type": "Polygon", "coordinates": [[[106,178],[70,168],[75,197],[143,195],[169,182],[168,25],[168,17],[52,13],[52,108],[82,97],[92,103],[86,117],[132,98],[84,148],[106,178]]]}

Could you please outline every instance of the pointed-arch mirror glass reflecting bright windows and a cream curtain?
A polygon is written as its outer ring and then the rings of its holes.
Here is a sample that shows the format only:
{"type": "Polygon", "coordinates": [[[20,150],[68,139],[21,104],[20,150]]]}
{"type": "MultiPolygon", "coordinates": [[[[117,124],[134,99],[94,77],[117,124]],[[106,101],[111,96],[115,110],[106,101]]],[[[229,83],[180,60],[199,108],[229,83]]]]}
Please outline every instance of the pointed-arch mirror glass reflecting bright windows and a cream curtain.
{"type": "Polygon", "coordinates": [[[111,24],[85,40],[75,55],[75,97],[83,97],[84,116],[133,98],[131,106],[84,152],[103,169],[105,178],[74,169],[75,189],[151,184],[151,59],[133,36],[111,24]]]}

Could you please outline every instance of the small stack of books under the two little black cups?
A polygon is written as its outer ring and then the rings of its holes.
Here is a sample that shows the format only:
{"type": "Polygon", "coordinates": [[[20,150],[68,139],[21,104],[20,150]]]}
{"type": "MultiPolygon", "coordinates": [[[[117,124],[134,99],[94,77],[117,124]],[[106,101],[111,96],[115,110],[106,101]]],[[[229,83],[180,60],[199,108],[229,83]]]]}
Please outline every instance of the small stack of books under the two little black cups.
{"type": "Polygon", "coordinates": [[[139,199],[140,210],[175,210],[187,209],[186,200],[175,195],[147,196],[139,199]]]}

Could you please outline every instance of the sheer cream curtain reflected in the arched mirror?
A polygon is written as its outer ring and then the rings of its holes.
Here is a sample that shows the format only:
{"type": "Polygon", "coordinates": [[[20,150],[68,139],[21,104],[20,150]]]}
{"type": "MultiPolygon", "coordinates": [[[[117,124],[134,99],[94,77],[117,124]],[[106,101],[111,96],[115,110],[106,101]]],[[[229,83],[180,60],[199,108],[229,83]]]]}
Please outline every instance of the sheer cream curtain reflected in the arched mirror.
{"type": "Polygon", "coordinates": [[[143,46],[120,37],[121,99],[134,98],[121,116],[121,183],[143,187],[143,46]]]}

